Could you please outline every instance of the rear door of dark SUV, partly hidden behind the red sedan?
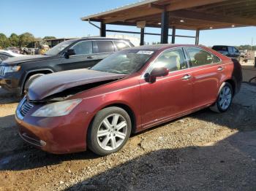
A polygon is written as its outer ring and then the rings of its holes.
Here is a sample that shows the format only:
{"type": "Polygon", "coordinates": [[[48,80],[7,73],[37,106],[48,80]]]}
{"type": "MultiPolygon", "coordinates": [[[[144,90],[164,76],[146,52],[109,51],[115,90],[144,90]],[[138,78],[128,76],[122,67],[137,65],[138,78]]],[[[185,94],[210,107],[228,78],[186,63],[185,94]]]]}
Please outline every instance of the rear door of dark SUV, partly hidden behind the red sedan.
{"type": "Polygon", "coordinates": [[[115,52],[113,42],[110,40],[97,40],[93,42],[94,52],[97,52],[97,62],[107,58],[115,52]]]}

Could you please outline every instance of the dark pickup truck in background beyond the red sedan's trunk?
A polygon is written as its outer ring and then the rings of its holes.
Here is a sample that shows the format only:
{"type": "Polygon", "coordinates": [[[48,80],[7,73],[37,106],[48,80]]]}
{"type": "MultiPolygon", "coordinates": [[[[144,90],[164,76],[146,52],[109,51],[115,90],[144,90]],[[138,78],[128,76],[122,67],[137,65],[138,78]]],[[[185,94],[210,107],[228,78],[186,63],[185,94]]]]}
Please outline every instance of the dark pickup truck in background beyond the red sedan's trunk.
{"type": "Polygon", "coordinates": [[[239,52],[236,47],[226,46],[226,45],[215,45],[212,47],[213,50],[226,55],[229,58],[235,58],[238,61],[241,61],[241,52],[239,52]]]}

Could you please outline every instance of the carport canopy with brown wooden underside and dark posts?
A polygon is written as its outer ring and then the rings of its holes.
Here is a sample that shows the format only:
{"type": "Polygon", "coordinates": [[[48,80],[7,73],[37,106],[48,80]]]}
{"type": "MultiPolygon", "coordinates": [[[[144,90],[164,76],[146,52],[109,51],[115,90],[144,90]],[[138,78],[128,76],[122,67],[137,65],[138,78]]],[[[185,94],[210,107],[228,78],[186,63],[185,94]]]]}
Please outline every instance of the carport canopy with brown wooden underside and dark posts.
{"type": "MultiPolygon", "coordinates": [[[[146,0],[124,7],[82,17],[81,20],[101,22],[101,36],[105,36],[106,24],[161,28],[161,42],[167,43],[168,28],[199,31],[217,28],[256,26],[255,0],[146,0]]],[[[144,27],[140,36],[144,36],[144,27]]],[[[113,30],[109,30],[113,31],[113,30]]],[[[121,31],[119,31],[121,32],[121,31]]],[[[193,36],[185,36],[193,37],[193,36]]]]}

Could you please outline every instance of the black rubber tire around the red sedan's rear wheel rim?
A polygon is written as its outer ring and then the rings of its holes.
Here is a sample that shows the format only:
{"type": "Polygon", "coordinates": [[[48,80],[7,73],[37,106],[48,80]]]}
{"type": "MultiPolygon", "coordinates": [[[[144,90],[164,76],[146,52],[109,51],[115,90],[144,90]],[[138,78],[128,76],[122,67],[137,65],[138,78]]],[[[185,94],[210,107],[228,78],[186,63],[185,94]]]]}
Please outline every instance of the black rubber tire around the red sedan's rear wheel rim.
{"type": "Polygon", "coordinates": [[[214,104],[213,106],[210,107],[211,111],[217,112],[217,113],[226,112],[226,111],[230,108],[230,106],[231,106],[231,104],[232,104],[233,95],[234,95],[234,94],[233,94],[233,87],[232,87],[232,85],[230,85],[230,83],[228,83],[228,82],[224,82],[224,83],[222,84],[220,90],[219,90],[219,95],[218,95],[218,97],[217,97],[217,101],[215,102],[215,104],[214,104]],[[230,91],[231,91],[231,101],[230,101],[230,104],[227,106],[227,108],[223,109],[223,107],[222,107],[221,104],[220,104],[220,100],[221,100],[221,99],[220,99],[219,97],[220,97],[220,95],[221,95],[221,93],[222,93],[222,90],[223,90],[225,87],[230,88],[230,91]]]}

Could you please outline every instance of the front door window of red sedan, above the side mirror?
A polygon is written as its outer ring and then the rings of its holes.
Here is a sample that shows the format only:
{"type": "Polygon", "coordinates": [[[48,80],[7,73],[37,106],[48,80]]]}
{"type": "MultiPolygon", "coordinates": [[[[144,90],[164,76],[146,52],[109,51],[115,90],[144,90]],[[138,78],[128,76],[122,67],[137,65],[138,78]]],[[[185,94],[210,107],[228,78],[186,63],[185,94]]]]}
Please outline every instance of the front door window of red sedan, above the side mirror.
{"type": "Polygon", "coordinates": [[[184,52],[181,49],[169,50],[160,55],[154,62],[153,68],[165,67],[169,71],[187,69],[184,52]]]}

